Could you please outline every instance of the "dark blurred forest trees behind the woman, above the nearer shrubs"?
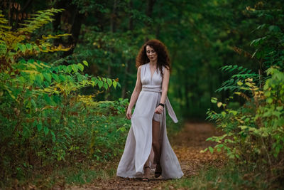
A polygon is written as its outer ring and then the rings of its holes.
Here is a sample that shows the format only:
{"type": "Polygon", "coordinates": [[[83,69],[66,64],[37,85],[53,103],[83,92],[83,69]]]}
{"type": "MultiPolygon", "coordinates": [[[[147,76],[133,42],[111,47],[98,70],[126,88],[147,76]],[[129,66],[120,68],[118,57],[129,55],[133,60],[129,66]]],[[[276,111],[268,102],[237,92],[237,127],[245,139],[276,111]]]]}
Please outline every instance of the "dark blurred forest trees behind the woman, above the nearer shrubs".
{"type": "MultiPolygon", "coordinates": [[[[100,100],[130,98],[136,82],[135,58],[138,49],[151,38],[158,38],[168,47],[173,66],[169,97],[175,110],[183,117],[204,119],[211,97],[229,78],[219,68],[240,65],[258,73],[257,59],[239,56],[253,54],[250,41],[257,33],[258,19],[246,10],[269,9],[278,1],[13,1],[21,8],[9,7],[2,1],[6,18],[18,27],[26,16],[43,9],[65,9],[53,16],[54,21],[37,31],[71,33],[72,36],[54,44],[72,46],[70,51],[56,53],[50,61],[62,64],[87,60],[86,73],[119,78],[121,88],[99,95],[100,100]]],[[[44,55],[46,57],[48,55],[44,55]]],[[[43,58],[44,59],[44,58],[43,58]]],[[[85,88],[84,94],[92,93],[85,88]]]]}

